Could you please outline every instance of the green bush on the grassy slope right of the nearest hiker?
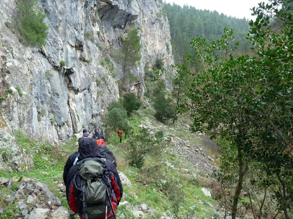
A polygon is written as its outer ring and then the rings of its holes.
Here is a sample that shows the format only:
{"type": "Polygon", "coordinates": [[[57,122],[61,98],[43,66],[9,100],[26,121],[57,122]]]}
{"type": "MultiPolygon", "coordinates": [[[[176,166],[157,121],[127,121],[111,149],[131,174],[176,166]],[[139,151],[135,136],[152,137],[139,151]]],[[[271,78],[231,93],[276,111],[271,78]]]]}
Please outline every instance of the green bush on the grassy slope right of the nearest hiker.
{"type": "MultiPolygon", "coordinates": [[[[159,136],[159,135],[157,135],[159,136]]],[[[142,168],[144,157],[147,155],[159,157],[161,154],[160,139],[155,140],[147,129],[141,129],[138,133],[131,133],[126,157],[130,165],[142,168]]]]}

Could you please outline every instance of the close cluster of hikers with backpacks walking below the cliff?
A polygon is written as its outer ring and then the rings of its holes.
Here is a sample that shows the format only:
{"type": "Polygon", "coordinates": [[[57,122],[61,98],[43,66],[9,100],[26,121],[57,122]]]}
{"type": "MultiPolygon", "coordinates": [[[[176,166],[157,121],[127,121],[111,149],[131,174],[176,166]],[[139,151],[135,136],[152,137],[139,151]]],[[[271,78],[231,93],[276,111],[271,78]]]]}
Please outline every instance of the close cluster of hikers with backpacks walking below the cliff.
{"type": "Polygon", "coordinates": [[[81,219],[116,218],[123,194],[116,167],[116,158],[106,147],[104,136],[95,129],[91,137],[84,129],[78,151],[69,156],[63,172],[69,207],[81,219]]]}

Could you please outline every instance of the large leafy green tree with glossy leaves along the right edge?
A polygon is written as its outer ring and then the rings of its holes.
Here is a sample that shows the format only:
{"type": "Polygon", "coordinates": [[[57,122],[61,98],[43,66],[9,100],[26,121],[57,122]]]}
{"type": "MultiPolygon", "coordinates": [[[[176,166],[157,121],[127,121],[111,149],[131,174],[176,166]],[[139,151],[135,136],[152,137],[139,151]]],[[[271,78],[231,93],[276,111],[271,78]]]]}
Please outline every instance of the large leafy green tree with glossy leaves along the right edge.
{"type": "MultiPolygon", "coordinates": [[[[278,201],[280,214],[292,218],[292,1],[270,0],[253,8],[248,37],[256,55],[233,55],[229,44],[233,31],[224,29],[220,40],[207,43],[192,39],[203,70],[193,75],[183,108],[193,109],[193,130],[212,138],[229,140],[237,158],[237,183],[231,206],[236,218],[237,204],[251,161],[262,163],[266,185],[278,201]],[[280,22],[271,29],[270,18],[280,22]],[[221,54],[221,57],[215,54],[221,54]]],[[[232,47],[232,52],[238,44],[232,47]]]]}

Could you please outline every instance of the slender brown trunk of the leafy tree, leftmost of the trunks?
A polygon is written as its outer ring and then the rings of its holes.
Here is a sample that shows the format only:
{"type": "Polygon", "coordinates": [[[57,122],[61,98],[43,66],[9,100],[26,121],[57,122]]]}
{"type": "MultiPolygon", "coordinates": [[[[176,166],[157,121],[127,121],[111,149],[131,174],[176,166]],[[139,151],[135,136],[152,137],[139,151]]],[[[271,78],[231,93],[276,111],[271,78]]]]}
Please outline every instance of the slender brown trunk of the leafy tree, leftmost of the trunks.
{"type": "Polygon", "coordinates": [[[239,174],[238,174],[238,184],[237,184],[235,194],[234,194],[234,199],[233,199],[232,219],[236,218],[237,204],[238,204],[240,192],[241,192],[241,189],[242,189],[243,176],[244,176],[245,172],[247,171],[246,168],[243,168],[241,148],[240,148],[239,145],[237,147],[238,147],[239,174]]]}

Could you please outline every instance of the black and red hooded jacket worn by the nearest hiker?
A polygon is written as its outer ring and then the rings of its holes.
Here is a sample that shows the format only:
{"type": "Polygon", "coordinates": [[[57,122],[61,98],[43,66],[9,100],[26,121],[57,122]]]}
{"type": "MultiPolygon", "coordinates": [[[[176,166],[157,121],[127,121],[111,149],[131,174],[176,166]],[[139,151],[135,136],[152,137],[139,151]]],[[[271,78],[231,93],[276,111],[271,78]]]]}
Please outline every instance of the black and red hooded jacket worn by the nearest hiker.
{"type": "MultiPolygon", "coordinates": [[[[79,158],[78,161],[81,161],[82,159],[88,158],[88,157],[100,157],[105,158],[103,155],[100,154],[98,150],[98,145],[95,139],[93,138],[84,138],[80,141],[79,144],[79,158]]],[[[116,212],[117,206],[119,205],[119,202],[122,198],[123,194],[123,187],[120,180],[120,177],[118,175],[118,171],[115,167],[115,165],[110,161],[106,159],[105,162],[107,171],[110,172],[109,180],[111,181],[112,191],[111,191],[111,197],[112,198],[112,205],[114,208],[114,212],[116,212]]],[[[73,165],[71,166],[66,179],[66,197],[69,204],[69,207],[72,211],[75,213],[77,212],[77,200],[74,194],[74,175],[78,172],[78,166],[73,165]]],[[[81,219],[83,219],[82,215],[79,215],[81,219]]],[[[112,218],[113,214],[107,215],[107,218],[112,218]]],[[[97,218],[100,219],[100,218],[97,218]]],[[[101,218],[102,219],[102,218],[101,218]]],[[[104,219],[104,218],[103,218],[104,219]]]]}

